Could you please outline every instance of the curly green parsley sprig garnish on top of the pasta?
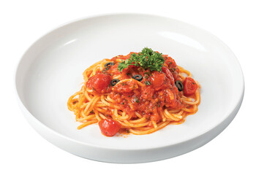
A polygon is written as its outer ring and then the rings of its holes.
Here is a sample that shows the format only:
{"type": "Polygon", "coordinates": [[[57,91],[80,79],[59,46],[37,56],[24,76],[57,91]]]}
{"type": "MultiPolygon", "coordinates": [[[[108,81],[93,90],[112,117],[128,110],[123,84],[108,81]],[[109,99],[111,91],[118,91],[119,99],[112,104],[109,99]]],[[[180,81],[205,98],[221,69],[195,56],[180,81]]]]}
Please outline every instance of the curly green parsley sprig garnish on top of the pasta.
{"type": "Polygon", "coordinates": [[[162,57],[162,53],[154,52],[148,47],[145,47],[141,52],[132,53],[131,57],[118,64],[118,70],[123,71],[130,65],[140,66],[143,69],[149,69],[151,71],[161,71],[162,66],[165,63],[165,58],[162,57]]]}

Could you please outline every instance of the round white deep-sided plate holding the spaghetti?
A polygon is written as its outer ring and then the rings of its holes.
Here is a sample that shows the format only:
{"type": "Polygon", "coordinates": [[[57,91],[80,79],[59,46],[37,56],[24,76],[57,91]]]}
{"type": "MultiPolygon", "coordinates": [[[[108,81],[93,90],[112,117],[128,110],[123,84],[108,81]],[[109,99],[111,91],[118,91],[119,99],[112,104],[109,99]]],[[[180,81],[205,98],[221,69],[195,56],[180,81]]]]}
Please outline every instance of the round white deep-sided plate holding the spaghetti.
{"type": "Polygon", "coordinates": [[[74,155],[111,163],[162,160],[201,147],[233,120],[244,96],[241,67],[223,42],[195,26],[154,15],[99,15],[67,23],[26,51],[15,78],[21,109],[37,132],[74,155]],[[198,112],[181,125],[143,136],[106,137],[96,124],[78,131],[67,100],[80,89],[83,71],[143,47],[170,55],[192,72],[202,86],[198,112]]]}

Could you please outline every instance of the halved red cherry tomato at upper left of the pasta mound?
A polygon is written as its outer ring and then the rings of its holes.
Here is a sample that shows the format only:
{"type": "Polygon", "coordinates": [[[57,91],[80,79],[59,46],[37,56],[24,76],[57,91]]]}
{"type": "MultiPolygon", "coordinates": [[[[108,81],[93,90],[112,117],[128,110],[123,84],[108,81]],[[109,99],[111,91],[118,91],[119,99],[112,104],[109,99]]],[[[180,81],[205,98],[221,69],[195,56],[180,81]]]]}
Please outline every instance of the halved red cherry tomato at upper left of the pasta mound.
{"type": "Polygon", "coordinates": [[[97,93],[105,93],[106,89],[110,85],[111,77],[108,74],[96,74],[89,78],[86,82],[87,88],[91,88],[97,93]]]}

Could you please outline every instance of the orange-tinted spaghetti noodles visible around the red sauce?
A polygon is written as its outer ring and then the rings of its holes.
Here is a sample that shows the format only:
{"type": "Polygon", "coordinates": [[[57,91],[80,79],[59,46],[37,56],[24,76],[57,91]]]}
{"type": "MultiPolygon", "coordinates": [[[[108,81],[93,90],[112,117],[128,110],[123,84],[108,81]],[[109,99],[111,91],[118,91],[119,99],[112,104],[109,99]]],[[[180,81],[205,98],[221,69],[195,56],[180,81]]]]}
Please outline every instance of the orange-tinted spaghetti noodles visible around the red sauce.
{"type": "MultiPolygon", "coordinates": [[[[156,98],[147,100],[148,104],[157,104],[163,98],[162,96],[165,96],[165,98],[169,96],[170,101],[176,100],[175,102],[179,103],[179,106],[175,108],[165,106],[163,104],[161,104],[161,106],[157,106],[154,109],[154,114],[157,113],[155,116],[158,116],[159,120],[154,120],[150,117],[150,114],[148,117],[148,114],[144,114],[141,110],[136,110],[140,108],[140,104],[136,103],[134,98],[125,99],[126,108],[124,107],[124,104],[121,103],[121,101],[124,99],[120,97],[118,99],[113,98],[113,88],[117,89],[119,87],[118,90],[120,91],[121,88],[124,88],[121,87],[121,85],[127,85],[128,88],[132,87],[132,91],[129,93],[135,92],[136,90],[141,93],[142,89],[154,85],[154,83],[151,83],[151,85],[146,85],[146,80],[144,82],[146,76],[143,77],[143,81],[140,82],[131,77],[127,78],[126,76],[123,76],[124,74],[122,73],[117,73],[116,68],[106,70],[106,63],[113,63],[113,65],[116,65],[117,67],[118,63],[121,63],[126,58],[129,58],[130,55],[131,54],[126,56],[119,55],[111,60],[104,59],[94,63],[94,65],[90,66],[88,69],[86,69],[86,71],[83,72],[83,87],[77,93],[70,96],[67,102],[68,109],[75,114],[75,120],[81,123],[81,125],[78,126],[78,129],[84,128],[93,123],[98,123],[100,120],[111,118],[118,121],[118,123],[121,123],[121,128],[123,128],[123,130],[127,133],[143,135],[154,133],[155,131],[164,128],[166,125],[184,123],[187,115],[195,114],[195,112],[197,112],[197,106],[200,104],[200,85],[198,82],[196,82],[198,88],[191,96],[184,96],[184,93],[182,91],[178,92],[178,90],[176,90],[177,93],[174,93],[176,91],[166,88],[162,91],[159,90],[156,98]],[[111,78],[120,79],[120,81],[117,82],[115,86],[109,85],[108,90],[104,93],[99,93],[96,92],[94,88],[89,88],[87,83],[89,82],[90,77],[104,71],[108,71],[107,74],[111,72],[111,78]],[[164,95],[161,95],[162,93],[164,95]]],[[[165,57],[165,66],[167,67],[167,60],[173,59],[167,57],[167,55],[165,57]]],[[[177,66],[176,69],[176,73],[178,74],[176,77],[181,79],[182,83],[184,83],[186,77],[192,77],[192,74],[186,69],[183,69],[180,66],[177,66]]],[[[145,70],[143,69],[143,71],[145,70]]],[[[142,98],[140,98],[140,100],[141,99],[142,98]]],[[[147,101],[145,103],[147,103],[147,101]]],[[[141,103],[143,102],[141,101],[141,103]]],[[[141,104],[141,106],[142,105],[143,104],[141,104]]]]}

